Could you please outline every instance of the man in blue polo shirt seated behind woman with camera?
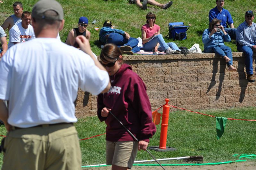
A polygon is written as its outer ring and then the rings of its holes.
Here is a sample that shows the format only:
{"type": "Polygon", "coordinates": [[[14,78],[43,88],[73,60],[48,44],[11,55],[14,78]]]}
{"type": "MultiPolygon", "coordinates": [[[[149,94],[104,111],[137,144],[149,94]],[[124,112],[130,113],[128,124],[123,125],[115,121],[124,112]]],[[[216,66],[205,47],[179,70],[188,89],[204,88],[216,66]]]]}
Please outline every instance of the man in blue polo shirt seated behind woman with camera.
{"type": "Polygon", "coordinates": [[[231,39],[235,39],[236,29],[233,24],[234,21],[232,20],[232,17],[228,10],[223,8],[224,4],[224,0],[216,0],[217,6],[215,8],[212,8],[209,12],[209,23],[211,23],[211,20],[214,18],[221,20],[221,25],[224,27],[224,30],[227,32],[231,39]],[[230,28],[228,28],[227,24],[230,28]]]}

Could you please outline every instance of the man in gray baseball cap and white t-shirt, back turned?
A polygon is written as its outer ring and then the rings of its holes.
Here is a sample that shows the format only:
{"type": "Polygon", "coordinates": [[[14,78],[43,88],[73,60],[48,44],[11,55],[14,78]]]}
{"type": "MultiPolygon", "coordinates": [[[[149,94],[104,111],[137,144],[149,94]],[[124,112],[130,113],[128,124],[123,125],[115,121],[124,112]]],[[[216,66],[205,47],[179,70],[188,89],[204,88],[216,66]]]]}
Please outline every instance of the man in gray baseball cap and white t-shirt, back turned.
{"type": "Polygon", "coordinates": [[[58,2],[38,1],[32,21],[36,38],[14,45],[0,61],[0,119],[8,131],[2,169],[81,169],[73,102],[78,87],[106,93],[109,76],[84,36],[76,37],[81,50],[56,39],[64,26],[58,2]]]}

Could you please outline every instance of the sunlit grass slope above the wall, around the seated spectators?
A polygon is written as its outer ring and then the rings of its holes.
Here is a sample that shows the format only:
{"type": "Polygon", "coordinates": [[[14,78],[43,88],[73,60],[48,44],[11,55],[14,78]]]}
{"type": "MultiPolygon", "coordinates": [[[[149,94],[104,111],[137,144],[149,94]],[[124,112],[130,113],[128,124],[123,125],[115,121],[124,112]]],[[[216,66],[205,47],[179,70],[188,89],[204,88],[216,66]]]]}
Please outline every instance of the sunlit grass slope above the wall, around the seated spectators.
{"type": "MultiPolygon", "coordinates": [[[[64,42],[68,32],[77,27],[79,17],[86,16],[89,20],[88,30],[91,32],[90,44],[96,55],[100,54],[99,31],[94,28],[101,28],[105,20],[111,20],[117,29],[122,29],[132,37],[141,37],[141,26],[146,23],[145,16],[148,12],[156,14],[156,24],[161,27],[161,33],[166,36],[169,32],[169,22],[184,22],[185,25],[191,24],[187,31],[187,39],[182,41],[173,41],[165,38],[166,42],[175,42],[178,46],[190,48],[194,43],[200,45],[203,50],[202,32],[208,28],[209,11],[216,6],[215,0],[175,0],[173,5],[162,10],[159,7],[147,5],[147,10],[139,9],[135,4],[129,4],[128,0],[58,0],[64,9],[65,26],[60,32],[60,37],[64,42]],[[92,21],[97,20],[95,25],[92,21]]],[[[12,4],[14,1],[4,0],[0,4],[0,24],[13,14],[12,4]],[[3,10],[2,10],[3,9],[3,10]]],[[[24,11],[32,10],[37,0],[21,0],[24,11]]],[[[157,0],[165,4],[168,0],[157,0]]],[[[247,10],[256,12],[255,0],[225,0],[224,8],[227,9],[234,20],[235,28],[244,21],[244,14],[247,10]]],[[[7,32],[6,32],[7,33],[7,32]]],[[[237,52],[234,40],[226,43],[233,52],[237,52]]]]}

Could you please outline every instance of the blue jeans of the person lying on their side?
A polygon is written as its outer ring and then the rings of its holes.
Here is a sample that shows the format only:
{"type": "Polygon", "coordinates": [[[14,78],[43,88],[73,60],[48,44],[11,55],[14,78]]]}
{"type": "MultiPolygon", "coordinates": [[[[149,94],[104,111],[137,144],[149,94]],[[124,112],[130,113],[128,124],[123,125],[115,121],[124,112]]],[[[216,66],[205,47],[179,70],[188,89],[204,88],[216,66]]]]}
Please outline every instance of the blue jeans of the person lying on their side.
{"type": "Polygon", "coordinates": [[[112,32],[109,34],[107,43],[113,43],[117,45],[118,47],[123,46],[123,45],[128,45],[132,47],[132,52],[137,53],[140,51],[140,48],[137,46],[139,43],[139,40],[136,38],[130,37],[129,39],[126,39],[124,35],[112,32]]]}

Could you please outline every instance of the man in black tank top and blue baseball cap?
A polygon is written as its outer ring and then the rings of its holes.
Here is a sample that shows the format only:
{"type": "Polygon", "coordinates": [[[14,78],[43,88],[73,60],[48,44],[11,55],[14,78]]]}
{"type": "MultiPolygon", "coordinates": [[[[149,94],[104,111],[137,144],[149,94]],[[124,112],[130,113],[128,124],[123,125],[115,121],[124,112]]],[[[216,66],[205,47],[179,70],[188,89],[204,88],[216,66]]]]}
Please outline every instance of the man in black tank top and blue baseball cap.
{"type": "Polygon", "coordinates": [[[74,45],[76,36],[83,35],[90,40],[91,33],[86,28],[88,26],[88,19],[86,17],[80,17],[78,20],[78,28],[70,30],[65,43],[67,45],[74,45]]]}

